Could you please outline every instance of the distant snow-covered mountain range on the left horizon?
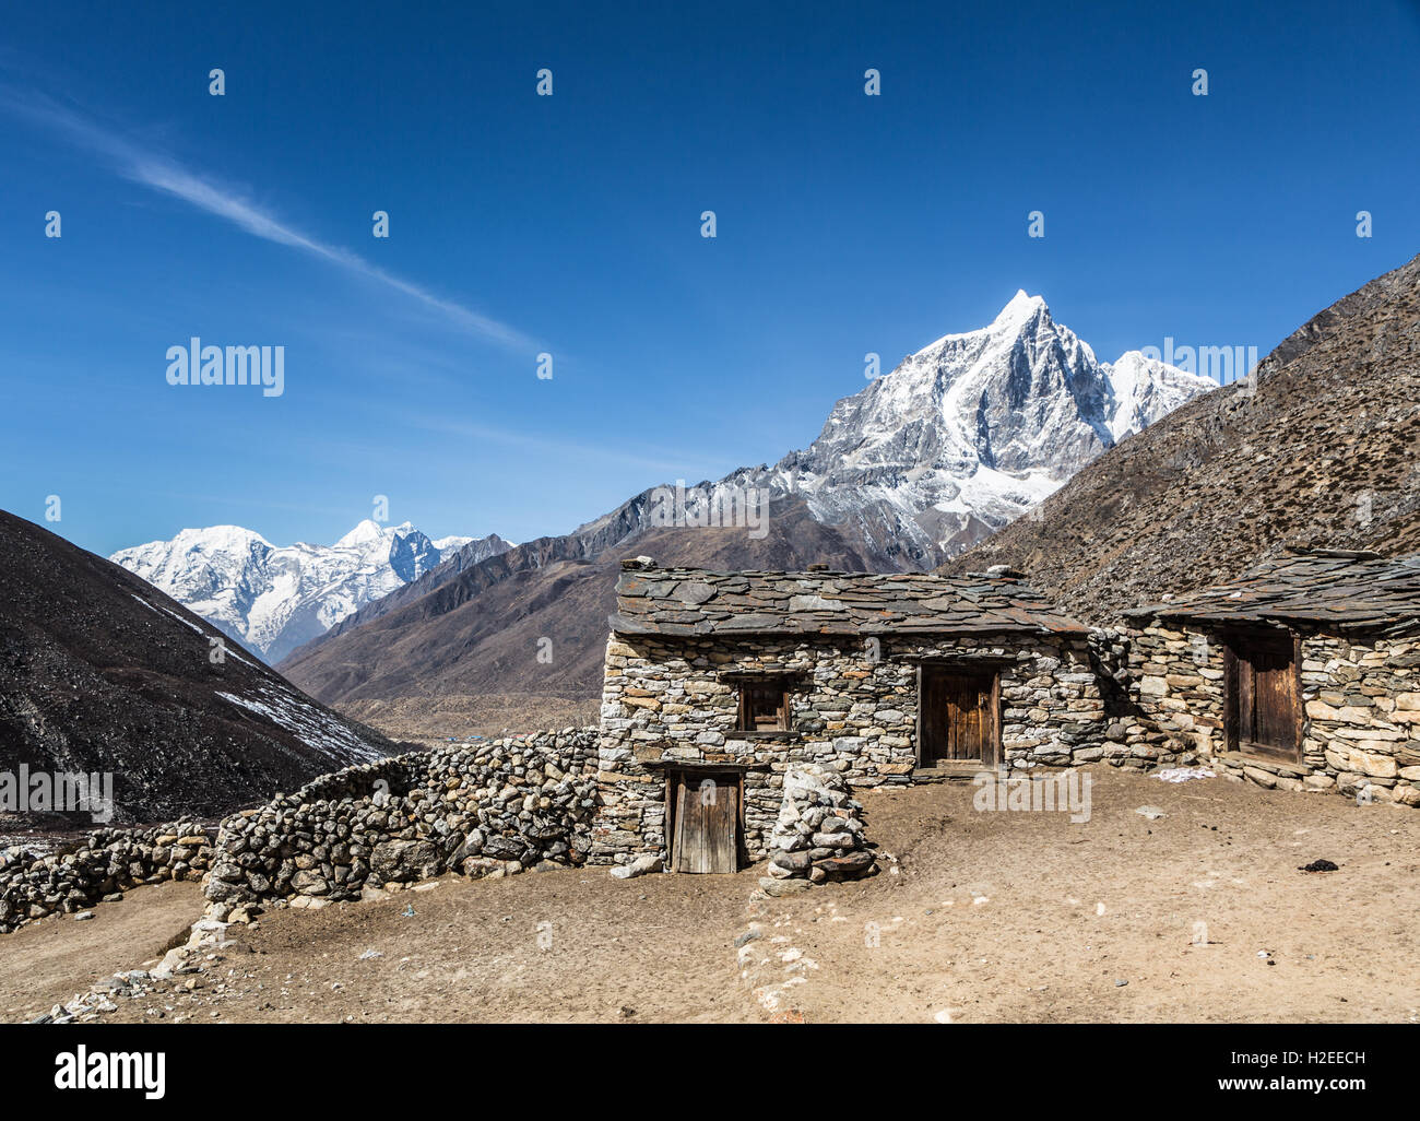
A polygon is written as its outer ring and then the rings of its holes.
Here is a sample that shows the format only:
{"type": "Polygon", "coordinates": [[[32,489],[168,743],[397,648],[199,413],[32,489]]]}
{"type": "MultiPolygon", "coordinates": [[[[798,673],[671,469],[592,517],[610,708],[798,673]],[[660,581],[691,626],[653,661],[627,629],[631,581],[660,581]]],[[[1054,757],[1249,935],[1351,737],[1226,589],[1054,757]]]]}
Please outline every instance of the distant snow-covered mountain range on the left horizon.
{"type": "Polygon", "coordinates": [[[430,541],[408,521],[366,519],[334,546],[278,547],[239,526],[210,526],[109,560],[274,664],[452,557],[476,564],[506,548],[497,534],[430,541]]]}

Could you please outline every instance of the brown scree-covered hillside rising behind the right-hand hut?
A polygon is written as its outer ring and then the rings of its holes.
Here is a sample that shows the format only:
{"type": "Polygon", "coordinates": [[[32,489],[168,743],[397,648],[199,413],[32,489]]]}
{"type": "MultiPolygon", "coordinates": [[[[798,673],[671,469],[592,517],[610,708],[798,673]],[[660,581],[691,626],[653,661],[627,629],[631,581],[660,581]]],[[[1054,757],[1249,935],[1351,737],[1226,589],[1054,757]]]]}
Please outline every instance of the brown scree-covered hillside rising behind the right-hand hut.
{"type": "Polygon", "coordinates": [[[944,571],[1010,564],[1106,621],[1284,544],[1420,551],[1420,257],[1315,315],[1255,371],[1081,470],[944,571]]]}

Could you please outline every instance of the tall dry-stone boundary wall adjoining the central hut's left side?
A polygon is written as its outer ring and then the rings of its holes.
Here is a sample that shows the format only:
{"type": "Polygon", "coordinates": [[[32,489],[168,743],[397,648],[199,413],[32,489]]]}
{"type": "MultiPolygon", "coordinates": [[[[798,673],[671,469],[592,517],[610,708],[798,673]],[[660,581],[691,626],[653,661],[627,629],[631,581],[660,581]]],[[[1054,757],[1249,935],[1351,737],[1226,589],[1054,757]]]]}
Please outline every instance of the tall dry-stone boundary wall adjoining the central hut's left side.
{"type": "Polygon", "coordinates": [[[596,729],[383,759],[227,817],[206,894],[308,908],[447,871],[575,865],[595,804],[596,729]]]}

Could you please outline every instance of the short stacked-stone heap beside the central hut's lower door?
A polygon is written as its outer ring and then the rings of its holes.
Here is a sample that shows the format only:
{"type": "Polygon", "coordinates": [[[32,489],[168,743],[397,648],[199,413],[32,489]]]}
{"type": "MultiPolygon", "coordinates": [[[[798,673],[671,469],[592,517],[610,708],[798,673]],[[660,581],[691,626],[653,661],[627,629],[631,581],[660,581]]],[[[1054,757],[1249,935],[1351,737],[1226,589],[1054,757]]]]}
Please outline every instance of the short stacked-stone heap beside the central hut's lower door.
{"type": "Polygon", "coordinates": [[[872,872],[861,813],[862,804],[836,771],[805,764],[785,773],[784,804],[770,834],[768,875],[760,881],[765,895],[872,872]]]}

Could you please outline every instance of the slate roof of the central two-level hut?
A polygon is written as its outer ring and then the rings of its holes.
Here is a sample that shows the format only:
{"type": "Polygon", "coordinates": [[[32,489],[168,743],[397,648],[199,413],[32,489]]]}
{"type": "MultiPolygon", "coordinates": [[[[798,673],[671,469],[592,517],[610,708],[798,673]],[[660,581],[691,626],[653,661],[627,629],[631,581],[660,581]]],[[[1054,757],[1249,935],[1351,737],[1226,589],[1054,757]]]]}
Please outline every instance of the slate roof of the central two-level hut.
{"type": "Polygon", "coordinates": [[[1020,573],[964,577],[872,573],[710,573],[622,561],[622,635],[1085,634],[1020,573]]]}

